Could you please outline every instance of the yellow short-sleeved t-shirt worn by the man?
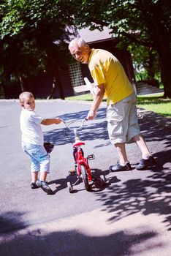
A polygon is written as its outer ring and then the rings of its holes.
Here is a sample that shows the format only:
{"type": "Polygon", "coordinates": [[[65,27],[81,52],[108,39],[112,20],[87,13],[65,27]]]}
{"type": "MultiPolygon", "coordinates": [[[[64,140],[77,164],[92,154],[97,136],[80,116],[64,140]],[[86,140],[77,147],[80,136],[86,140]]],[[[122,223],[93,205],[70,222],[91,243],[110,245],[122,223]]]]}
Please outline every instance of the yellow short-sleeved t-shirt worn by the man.
{"type": "Polygon", "coordinates": [[[104,83],[107,104],[119,102],[134,92],[120,61],[107,50],[92,49],[88,68],[96,86],[104,83]]]}

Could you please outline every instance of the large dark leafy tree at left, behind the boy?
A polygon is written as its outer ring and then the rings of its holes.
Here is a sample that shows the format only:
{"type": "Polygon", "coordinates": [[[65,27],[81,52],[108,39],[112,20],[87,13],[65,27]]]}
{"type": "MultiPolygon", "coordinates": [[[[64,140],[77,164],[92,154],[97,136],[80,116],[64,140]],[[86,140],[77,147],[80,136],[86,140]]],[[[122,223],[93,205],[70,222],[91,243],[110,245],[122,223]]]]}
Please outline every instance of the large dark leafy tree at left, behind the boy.
{"type": "Polygon", "coordinates": [[[61,53],[69,37],[66,21],[70,26],[72,19],[63,1],[50,0],[47,4],[45,0],[4,0],[0,5],[0,65],[4,75],[18,77],[22,89],[23,78],[27,78],[33,91],[31,78],[46,70],[53,75],[64,99],[58,72],[68,61],[61,53]]]}

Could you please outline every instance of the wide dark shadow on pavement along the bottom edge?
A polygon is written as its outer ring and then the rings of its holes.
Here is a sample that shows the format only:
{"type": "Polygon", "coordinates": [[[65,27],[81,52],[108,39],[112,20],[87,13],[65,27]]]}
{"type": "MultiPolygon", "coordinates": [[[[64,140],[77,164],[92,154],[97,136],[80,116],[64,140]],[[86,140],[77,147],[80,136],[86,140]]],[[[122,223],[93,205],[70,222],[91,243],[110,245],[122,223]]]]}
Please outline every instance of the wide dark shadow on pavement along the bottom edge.
{"type": "MultiPolygon", "coordinates": [[[[101,223],[99,223],[101,225],[101,223]]],[[[143,225],[142,225],[143,226],[143,225]]],[[[141,226],[141,227],[142,227],[141,226]]],[[[158,236],[156,232],[149,232],[148,227],[143,226],[140,233],[125,233],[123,230],[96,236],[83,233],[78,230],[64,230],[45,232],[41,228],[29,229],[26,232],[16,232],[12,236],[3,234],[4,239],[0,244],[0,255],[3,256],[99,256],[99,255],[140,255],[140,252],[148,253],[159,249],[164,243],[154,241],[158,236]],[[151,241],[152,239],[152,241],[151,241]],[[148,246],[142,246],[147,244],[148,246]],[[134,250],[134,248],[136,249],[134,250]]],[[[53,228],[54,230],[54,228],[53,228]]]]}

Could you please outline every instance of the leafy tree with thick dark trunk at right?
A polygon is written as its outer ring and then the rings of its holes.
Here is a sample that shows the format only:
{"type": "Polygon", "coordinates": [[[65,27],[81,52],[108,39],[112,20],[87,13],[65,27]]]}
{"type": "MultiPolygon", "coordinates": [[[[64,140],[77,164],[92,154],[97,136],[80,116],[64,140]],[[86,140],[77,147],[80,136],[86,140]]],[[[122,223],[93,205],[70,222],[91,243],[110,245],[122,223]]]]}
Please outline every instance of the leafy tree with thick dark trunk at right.
{"type": "Polygon", "coordinates": [[[75,0],[75,24],[103,29],[109,26],[120,41],[156,50],[164,96],[171,97],[170,0],[75,0]],[[77,5],[76,5],[77,3],[77,5]]]}

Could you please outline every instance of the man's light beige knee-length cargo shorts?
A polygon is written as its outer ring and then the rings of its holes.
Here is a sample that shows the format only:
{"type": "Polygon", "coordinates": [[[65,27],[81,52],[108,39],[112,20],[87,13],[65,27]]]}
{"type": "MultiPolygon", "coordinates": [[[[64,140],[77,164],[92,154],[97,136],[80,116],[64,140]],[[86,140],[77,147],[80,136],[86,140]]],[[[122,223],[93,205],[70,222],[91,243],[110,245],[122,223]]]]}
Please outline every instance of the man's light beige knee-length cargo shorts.
{"type": "Polygon", "coordinates": [[[107,129],[112,144],[132,143],[132,138],[140,134],[137,119],[136,95],[122,99],[107,107],[107,129]]]}

